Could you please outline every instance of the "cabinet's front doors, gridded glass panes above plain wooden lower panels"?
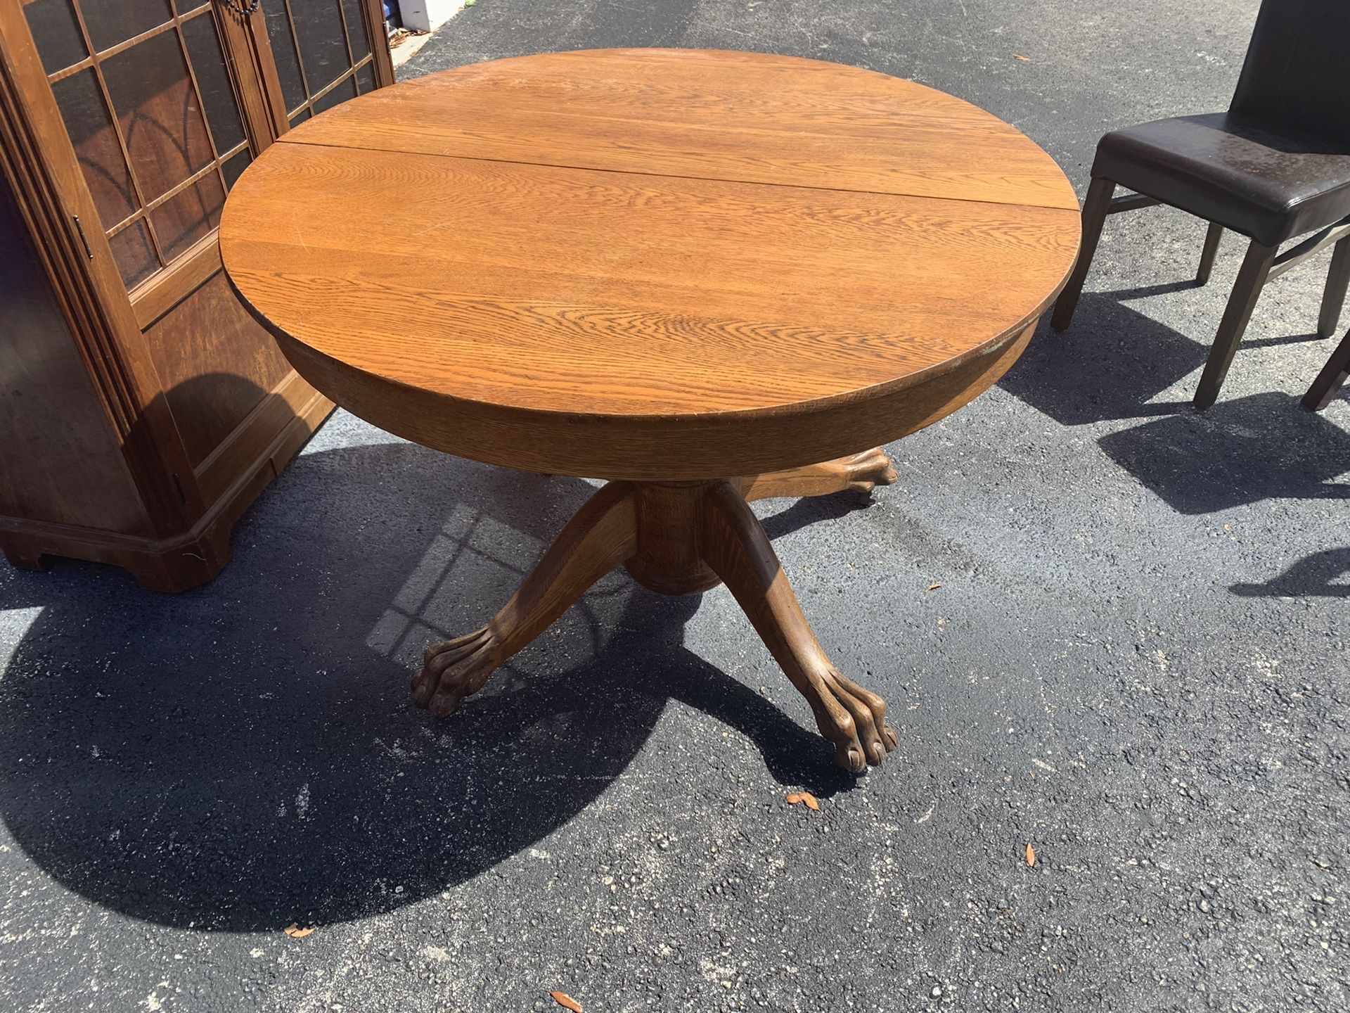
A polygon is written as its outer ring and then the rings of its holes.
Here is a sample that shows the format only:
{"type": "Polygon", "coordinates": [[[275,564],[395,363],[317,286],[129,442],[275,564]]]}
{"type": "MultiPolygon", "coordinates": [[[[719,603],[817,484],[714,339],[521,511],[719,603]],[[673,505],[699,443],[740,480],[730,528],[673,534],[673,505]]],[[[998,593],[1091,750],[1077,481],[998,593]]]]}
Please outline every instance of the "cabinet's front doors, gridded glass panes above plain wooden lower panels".
{"type": "Polygon", "coordinates": [[[377,3],[24,0],[97,209],[81,228],[103,232],[90,249],[116,263],[208,502],[234,478],[221,447],[269,396],[300,396],[220,269],[225,196],[292,122],[389,82],[377,3]]]}

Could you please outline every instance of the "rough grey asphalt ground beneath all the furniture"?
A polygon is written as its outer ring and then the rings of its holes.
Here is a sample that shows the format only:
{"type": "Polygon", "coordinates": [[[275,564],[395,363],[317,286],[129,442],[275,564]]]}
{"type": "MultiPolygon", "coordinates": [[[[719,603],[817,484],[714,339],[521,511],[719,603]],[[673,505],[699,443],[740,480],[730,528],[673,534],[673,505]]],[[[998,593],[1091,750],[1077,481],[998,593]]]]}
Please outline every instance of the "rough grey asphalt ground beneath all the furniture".
{"type": "MultiPolygon", "coordinates": [[[[1081,193],[1103,131],[1223,108],[1256,7],[479,0],[402,73],[819,57],[991,109],[1081,193]]],[[[1350,1008],[1350,402],[1297,405],[1328,254],[1196,415],[1241,259],[1196,289],[1203,231],[1111,219],[1073,328],[891,446],[873,505],[757,504],[890,701],[857,782],[725,589],[613,575],[455,717],[412,708],[421,646],[590,486],[342,412],[207,588],[0,569],[0,1008],[1350,1008]]]]}

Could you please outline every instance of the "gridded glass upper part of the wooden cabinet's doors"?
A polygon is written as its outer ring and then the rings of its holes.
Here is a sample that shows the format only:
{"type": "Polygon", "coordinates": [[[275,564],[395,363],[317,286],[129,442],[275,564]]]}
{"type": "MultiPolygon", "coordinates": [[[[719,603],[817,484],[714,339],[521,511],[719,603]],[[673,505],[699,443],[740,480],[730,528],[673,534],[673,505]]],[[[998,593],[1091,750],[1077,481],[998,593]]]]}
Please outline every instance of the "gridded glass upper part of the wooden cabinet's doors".
{"type": "Polygon", "coordinates": [[[201,281],[185,263],[211,261],[230,185],[273,136],[392,82],[378,4],[23,0],[123,284],[154,296],[143,323],[184,294],[166,271],[201,281]]]}

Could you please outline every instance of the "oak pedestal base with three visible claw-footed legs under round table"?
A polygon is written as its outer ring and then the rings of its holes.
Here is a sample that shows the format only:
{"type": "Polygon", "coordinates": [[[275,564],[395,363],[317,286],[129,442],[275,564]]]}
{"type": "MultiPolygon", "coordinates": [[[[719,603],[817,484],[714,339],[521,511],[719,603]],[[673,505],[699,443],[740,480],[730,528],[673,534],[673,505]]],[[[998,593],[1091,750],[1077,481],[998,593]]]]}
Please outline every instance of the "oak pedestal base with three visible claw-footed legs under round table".
{"type": "Polygon", "coordinates": [[[880,450],[753,478],[610,482],[567,523],[520,590],[482,629],[427,648],[413,701],[440,717],[587,588],[617,566],[645,588],[688,594],[726,583],[783,671],[806,697],[836,760],[856,774],[895,748],[886,702],[845,678],[815,640],[748,501],[871,492],[895,481],[880,450]]]}

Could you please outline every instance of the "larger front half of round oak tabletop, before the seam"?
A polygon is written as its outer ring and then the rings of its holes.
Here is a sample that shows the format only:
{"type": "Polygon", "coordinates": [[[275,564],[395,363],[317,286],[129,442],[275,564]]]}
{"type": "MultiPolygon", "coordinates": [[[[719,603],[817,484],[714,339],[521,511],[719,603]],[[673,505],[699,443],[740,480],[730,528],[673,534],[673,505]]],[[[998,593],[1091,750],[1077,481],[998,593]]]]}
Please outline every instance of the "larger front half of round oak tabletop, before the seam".
{"type": "Polygon", "coordinates": [[[1077,230],[1045,208],[300,146],[239,189],[231,277],[297,340],[603,415],[775,408],[949,362],[1040,305],[1077,230]],[[383,228],[409,193],[417,217],[383,228]]]}

